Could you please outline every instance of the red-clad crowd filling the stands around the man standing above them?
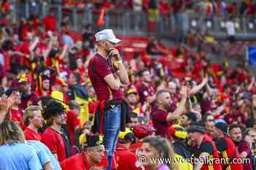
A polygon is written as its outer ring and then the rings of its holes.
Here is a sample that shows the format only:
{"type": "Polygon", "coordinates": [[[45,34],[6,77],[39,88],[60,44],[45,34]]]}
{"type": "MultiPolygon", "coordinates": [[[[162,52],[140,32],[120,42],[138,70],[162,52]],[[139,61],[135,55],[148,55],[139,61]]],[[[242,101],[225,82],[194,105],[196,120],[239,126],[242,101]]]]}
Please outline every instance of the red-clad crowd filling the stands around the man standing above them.
{"type": "Polygon", "coordinates": [[[76,41],[69,20],[58,31],[51,14],[42,21],[8,19],[2,18],[0,33],[0,169],[255,169],[255,77],[243,64],[231,69],[212,63],[200,48],[164,47],[154,39],[144,53],[121,55],[110,69],[120,72],[124,63],[129,84],[110,88],[124,93],[129,121],[109,163],[106,142],[94,131],[101,107],[95,87],[104,88],[95,82],[110,71],[97,68],[99,77],[89,71],[105,42],[96,41],[91,26],[76,41]],[[141,162],[143,155],[148,162],[141,162]],[[206,157],[249,162],[149,162],[206,157]]]}

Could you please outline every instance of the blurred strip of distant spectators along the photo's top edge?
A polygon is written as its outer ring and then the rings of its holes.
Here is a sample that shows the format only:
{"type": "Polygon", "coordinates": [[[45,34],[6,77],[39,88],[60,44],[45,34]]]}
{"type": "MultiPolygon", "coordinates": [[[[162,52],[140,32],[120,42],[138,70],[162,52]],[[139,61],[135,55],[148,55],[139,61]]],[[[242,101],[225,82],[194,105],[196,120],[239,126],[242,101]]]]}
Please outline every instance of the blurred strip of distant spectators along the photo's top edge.
{"type": "MultiPolygon", "coordinates": [[[[1,12],[10,12],[13,9],[12,0],[1,1],[1,12]]],[[[254,16],[255,1],[252,0],[239,0],[239,1],[212,1],[212,0],[39,0],[39,1],[17,1],[17,4],[23,5],[29,3],[29,7],[34,10],[40,10],[40,6],[47,6],[49,4],[61,4],[63,7],[67,8],[78,8],[85,9],[89,7],[91,9],[100,9],[104,7],[105,9],[129,9],[135,11],[148,11],[148,9],[157,9],[162,17],[167,16],[170,12],[178,14],[179,12],[184,12],[185,10],[193,10],[198,12],[200,15],[205,15],[211,17],[212,15],[217,15],[218,17],[229,17],[233,16],[254,16]]],[[[18,6],[17,6],[18,7],[18,6]]],[[[35,12],[35,11],[34,11],[35,12]]],[[[39,11],[37,11],[39,12],[39,11]]]]}

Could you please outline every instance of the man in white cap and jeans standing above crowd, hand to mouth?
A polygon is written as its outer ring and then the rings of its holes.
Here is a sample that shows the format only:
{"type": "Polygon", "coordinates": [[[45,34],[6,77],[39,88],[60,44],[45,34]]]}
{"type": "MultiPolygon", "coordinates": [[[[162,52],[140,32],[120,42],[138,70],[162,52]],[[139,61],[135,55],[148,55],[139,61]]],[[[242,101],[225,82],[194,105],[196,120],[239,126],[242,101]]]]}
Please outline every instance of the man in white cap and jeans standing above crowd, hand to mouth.
{"type": "Polygon", "coordinates": [[[92,131],[104,135],[110,169],[119,130],[125,131],[125,123],[128,123],[128,104],[123,100],[121,88],[128,85],[129,78],[116,49],[121,40],[116,39],[111,29],[99,31],[95,36],[97,54],[89,61],[88,73],[99,104],[92,131]]]}

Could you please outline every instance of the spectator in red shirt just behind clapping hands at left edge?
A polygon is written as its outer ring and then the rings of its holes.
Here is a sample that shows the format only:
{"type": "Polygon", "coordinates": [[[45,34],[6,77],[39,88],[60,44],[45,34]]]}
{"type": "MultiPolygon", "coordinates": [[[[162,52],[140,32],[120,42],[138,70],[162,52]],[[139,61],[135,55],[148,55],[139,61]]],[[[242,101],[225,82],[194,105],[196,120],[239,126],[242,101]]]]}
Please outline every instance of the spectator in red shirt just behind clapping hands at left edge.
{"type": "Polygon", "coordinates": [[[12,105],[12,108],[10,110],[11,115],[12,115],[12,121],[18,122],[21,128],[25,128],[25,125],[23,123],[23,112],[19,108],[20,104],[20,93],[18,92],[17,88],[10,88],[8,89],[5,94],[7,96],[11,96],[13,92],[16,92],[17,97],[15,98],[15,102],[12,105]]]}

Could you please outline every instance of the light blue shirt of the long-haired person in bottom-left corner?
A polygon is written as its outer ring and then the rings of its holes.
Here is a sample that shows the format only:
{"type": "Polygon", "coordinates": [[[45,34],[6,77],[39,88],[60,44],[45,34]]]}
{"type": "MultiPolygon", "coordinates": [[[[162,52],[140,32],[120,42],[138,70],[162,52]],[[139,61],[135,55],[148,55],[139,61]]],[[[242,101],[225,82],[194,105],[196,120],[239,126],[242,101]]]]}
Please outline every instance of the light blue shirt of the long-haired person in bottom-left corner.
{"type": "Polygon", "coordinates": [[[42,166],[33,147],[15,143],[0,146],[1,170],[41,170],[42,166]]]}

